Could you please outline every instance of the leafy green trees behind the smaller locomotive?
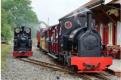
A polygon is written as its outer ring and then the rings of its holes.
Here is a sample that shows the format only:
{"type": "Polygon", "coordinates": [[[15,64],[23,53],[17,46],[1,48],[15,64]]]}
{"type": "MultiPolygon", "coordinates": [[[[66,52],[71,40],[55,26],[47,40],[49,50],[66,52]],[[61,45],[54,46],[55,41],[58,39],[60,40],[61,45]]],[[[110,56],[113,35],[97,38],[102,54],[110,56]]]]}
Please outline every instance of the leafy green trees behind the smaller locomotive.
{"type": "Polygon", "coordinates": [[[33,25],[39,22],[30,0],[2,0],[1,4],[1,35],[7,40],[12,37],[14,27],[31,25],[34,28],[33,25]]]}

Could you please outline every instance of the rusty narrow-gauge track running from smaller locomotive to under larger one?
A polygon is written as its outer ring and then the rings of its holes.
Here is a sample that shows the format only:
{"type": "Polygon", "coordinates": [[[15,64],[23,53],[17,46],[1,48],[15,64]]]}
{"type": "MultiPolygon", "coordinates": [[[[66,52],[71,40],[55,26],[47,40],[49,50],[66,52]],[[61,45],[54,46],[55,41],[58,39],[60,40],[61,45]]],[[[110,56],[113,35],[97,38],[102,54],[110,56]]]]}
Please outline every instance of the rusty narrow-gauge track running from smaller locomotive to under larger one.
{"type": "MultiPolygon", "coordinates": [[[[34,64],[34,65],[51,68],[55,71],[61,71],[67,74],[70,73],[69,69],[63,66],[57,65],[57,64],[51,64],[51,63],[39,61],[39,60],[32,59],[32,58],[18,58],[18,59],[24,62],[34,64]]],[[[104,73],[76,73],[76,74],[71,74],[71,75],[78,76],[80,78],[83,78],[84,80],[117,80],[113,78],[114,77],[113,75],[108,74],[106,72],[104,73]]]]}

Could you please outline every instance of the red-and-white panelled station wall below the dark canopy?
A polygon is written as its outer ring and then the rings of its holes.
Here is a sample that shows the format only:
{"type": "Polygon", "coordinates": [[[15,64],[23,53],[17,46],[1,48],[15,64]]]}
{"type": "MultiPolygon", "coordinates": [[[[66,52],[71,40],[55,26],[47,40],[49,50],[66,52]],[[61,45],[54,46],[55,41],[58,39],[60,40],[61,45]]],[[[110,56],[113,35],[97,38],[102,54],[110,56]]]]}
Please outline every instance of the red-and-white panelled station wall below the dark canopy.
{"type": "Polygon", "coordinates": [[[97,30],[102,39],[102,43],[105,45],[120,45],[121,46],[121,22],[113,24],[99,24],[97,30]]]}

